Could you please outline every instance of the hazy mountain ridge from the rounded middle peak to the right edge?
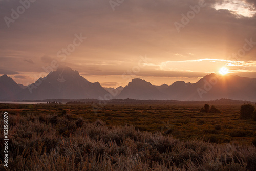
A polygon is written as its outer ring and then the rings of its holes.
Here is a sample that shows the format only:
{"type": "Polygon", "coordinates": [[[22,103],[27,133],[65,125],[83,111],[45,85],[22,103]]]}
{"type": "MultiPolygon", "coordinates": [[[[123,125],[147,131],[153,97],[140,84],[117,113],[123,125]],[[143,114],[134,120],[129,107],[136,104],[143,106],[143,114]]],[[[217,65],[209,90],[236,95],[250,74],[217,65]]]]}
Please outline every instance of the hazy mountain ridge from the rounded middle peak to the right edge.
{"type": "Polygon", "coordinates": [[[156,99],[156,100],[233,100],[256,101],[256,78],[239,76],[219,76],[209,74],[196,83],[174,82],[167,86],[153,86],[141,79],[134,79],[117,98],[156,99]],[[155,87],[156,89],[154,89],[155,87]]]}

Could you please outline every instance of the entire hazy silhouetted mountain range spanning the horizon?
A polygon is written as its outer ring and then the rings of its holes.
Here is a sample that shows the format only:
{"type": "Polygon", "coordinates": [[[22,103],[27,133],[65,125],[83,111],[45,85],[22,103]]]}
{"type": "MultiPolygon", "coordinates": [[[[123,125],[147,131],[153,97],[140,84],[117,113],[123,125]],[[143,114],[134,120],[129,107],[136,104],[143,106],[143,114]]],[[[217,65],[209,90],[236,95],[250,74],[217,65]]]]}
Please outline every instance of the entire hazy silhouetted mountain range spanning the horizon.
{"type": "Polygon", "coordinates": [[[196,83],[177,81],[154,86],[143,79],[133,79],[127,86],[103,88],[89,82],[69,67],[61,67],[29,86],[17,84],[11,77],[0,77],[0,100],[44,99],[138,99],[205,101],[221,98],[256,101],[256,78],[211,73],[196,83]]]}

